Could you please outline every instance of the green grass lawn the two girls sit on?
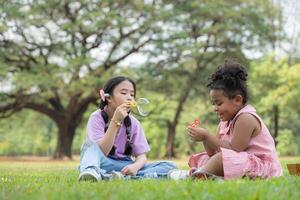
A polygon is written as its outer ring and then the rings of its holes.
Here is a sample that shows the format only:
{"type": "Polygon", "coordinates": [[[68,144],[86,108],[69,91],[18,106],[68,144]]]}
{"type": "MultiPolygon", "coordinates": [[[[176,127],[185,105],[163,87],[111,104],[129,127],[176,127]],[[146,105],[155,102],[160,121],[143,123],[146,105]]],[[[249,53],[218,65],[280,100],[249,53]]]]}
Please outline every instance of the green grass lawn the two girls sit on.
{"type": "MultiPolygon", "coordinates": [[[[184,161],[175,161],[185,168],[184,161]]],[[[78,182],[78,161],[11,161],[0,159],[0,200],[6,199],[300,199],[300,177],[271,180],[114,180],[78,182]]]]}

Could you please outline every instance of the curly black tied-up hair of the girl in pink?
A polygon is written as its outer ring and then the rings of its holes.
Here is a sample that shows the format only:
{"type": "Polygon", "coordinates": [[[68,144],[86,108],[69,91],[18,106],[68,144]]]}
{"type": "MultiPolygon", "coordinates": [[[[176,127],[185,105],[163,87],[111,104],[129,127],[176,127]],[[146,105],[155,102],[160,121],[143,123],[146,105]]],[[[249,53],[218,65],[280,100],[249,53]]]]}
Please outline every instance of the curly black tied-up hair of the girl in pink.
{"type": "Polygon", "coordinates": [[[207,87],[209,89],[223,90],[229,99],[240,94],[245,104],[249,98],[247,89],[247,71],[239,63],[232,60],[225,60],[209,78],[207,87]]]}

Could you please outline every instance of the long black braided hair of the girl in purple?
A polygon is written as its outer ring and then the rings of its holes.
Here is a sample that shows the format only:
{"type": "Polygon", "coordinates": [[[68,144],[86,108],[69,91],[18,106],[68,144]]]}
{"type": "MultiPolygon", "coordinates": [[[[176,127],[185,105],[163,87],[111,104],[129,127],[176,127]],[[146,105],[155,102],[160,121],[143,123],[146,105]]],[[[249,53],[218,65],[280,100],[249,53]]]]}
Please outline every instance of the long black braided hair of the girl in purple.
{"type": "MultiPolygon", "coordinates": [[[[134,97],[135,97],[135,95],[136,95],[135,82],[133,80],[131,80],[130,78],[127,78],[127,77],[124,77],[124,76],[117,76],[117,77],[113,77],[113,78],[109,79],[103,87],[104,93],[107,93],[110,96],[112,96],[115,87],[123,81],[129,81],[130,83],[132,83],[133,89],[134,89],[134,97]]],[[[104,132],[106,132],[107,129],[108,129],[108,114],[104,110],[104,107],[106,105],[107,105],[107,100],[103,101],[101,99],[99,108],[101,109],[101,116],[103,117],[104,122],[105,122],[104,132]]],[[[131,144],[130,144],[131,119],[130,119],[129,115],[127,115],[124,118],[124,125],[125,125],[125,128],[126,128],[126,144],[125,144],[124,154],[125,155],[131,155],[132,154],[132,147],[131,147],[131,144]]],[[[116,147],[113,146],[112,149],[109,152],[109,155],[114,155],[115,150],[116,150],[116,147]]]]}

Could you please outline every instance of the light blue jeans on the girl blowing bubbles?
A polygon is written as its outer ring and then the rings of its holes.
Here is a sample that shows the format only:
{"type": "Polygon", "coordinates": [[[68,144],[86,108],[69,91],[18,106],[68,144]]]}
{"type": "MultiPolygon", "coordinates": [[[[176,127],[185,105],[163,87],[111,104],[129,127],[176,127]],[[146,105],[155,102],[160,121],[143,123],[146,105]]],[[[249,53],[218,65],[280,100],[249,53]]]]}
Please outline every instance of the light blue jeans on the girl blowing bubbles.
{"type": "MultiPolygon", "coordinates": [[[[121,171],[125,166],[134,161],[130,157],[112,158],[103,154],[98,144],[93,141],[86,141],[81,148],[79,173],[87,168],[94,168],[101,175],[112,171],[121,171]]],[[[163,178],[168,172],[176,169],[176,165],[169,161],[158,161],[147,163],[142,167],[133,178],[163,178]]]]}

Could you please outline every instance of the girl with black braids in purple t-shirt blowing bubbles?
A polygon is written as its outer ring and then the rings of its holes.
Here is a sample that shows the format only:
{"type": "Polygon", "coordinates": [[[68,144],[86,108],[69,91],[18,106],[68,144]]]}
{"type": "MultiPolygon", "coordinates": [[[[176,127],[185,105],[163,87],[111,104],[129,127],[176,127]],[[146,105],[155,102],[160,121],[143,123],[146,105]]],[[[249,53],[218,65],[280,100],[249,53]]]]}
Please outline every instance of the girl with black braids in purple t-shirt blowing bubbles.
{"type": "Polygon", "coordinates": [[[80,181],[161,178],[176,168],[167,161],[146,163],[150,147],[139,121],[130,114],[135,96],[135,83],[123,76],[110,79],[100,90],[100,109],[88,120],[81,150],[80,181]]]}

